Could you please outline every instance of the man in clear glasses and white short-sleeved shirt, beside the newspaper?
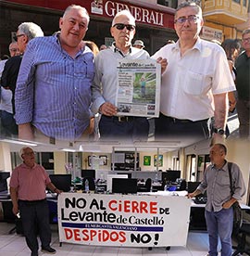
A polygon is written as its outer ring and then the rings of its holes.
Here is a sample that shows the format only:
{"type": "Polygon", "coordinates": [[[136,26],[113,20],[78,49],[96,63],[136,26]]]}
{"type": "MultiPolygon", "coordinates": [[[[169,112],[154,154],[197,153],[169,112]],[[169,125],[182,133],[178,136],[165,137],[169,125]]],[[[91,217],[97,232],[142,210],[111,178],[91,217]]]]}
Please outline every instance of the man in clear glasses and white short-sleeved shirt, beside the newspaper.
{"type": "Polygon", "coordinates": [[[207,138],[209,120],[214,117],[213,139],[223,140],[227,95],[235,90],[226,55],[219,45],[200,39],[204,21],[196,3],[181,3],[174,19],[178,42],[165,45],[153,56],[168,61],[162,75],[156,139],[207,138]]]}

